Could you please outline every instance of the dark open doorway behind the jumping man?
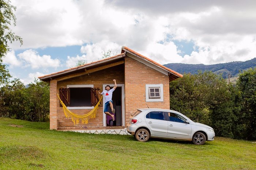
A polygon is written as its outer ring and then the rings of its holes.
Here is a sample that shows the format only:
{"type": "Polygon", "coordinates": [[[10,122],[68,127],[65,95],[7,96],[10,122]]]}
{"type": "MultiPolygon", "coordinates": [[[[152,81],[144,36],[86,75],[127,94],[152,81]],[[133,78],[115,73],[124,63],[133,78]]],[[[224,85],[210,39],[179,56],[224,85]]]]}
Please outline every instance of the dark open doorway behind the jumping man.
{"type": "MultiPolygon", "coordinates": [[[[113,87],[111,87],[113,88],[113,87]]],[[[122,88],[117,87],[116,90],[113,92],[112,95],[113,100],[113,108],[116,110],[115,113],[115,120],[113,121],[111,116],[108,118],[107,115],[107,126],[122,126],[122,88]]],[[[111,108],[109,107],[109,112],[112,113],[111,108]]]]}

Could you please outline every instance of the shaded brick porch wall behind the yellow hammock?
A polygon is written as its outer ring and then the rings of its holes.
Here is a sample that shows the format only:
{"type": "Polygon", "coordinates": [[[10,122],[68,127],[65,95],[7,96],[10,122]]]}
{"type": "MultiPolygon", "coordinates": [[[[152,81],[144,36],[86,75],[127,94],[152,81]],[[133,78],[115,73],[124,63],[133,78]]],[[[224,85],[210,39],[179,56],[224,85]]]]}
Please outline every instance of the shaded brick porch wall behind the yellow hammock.
{"type": "MultiPolygon", "coordinates": [[[[115,66],[115,67],[110,67],[105,70],[93,72],[93,73],[90,73],[89,75],[82,75],[79,77],[60,81],[57,83],[57,86],[55,87],[55,91],[57,90],[57,93],[59,94],[59,88],[67,88],[67,85],[73,85],[73,84],[93,84],[95,88],[96,87],[102,88],[102,84],[114,84],[113,79],[116,79],[117,84],[124,84],[124,64],[115,66]]],[[[54,88],[54,87],[51,87],[51,88],[54,88]]],[[[55,105],[57,105],[56,106],[56,110],[57,110],[56,128],[57,127],[59,128],[59,127],[103,126],[103,107],[101,106],[99,107],[98,114],[96,114],[96,118],[90,119],[87,124],[79,123],[74,125],[74,123],[71,121],[71,118],[68,119],[65,117],[62,107],[60,107],[59,99],[56,101],[51,100],[50,107],[55,105]]],[[[90,112],[91,109],[81,109],[81,110],[72,109],[71,111],[76,114],[83,115],[90,112]]]]}

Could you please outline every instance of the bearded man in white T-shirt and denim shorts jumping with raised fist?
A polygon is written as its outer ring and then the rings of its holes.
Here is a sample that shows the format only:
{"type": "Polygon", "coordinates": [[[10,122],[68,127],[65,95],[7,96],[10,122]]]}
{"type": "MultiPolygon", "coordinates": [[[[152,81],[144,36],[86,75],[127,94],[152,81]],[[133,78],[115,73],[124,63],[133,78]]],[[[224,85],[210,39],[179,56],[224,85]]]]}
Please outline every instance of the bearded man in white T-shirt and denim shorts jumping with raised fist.
{"type": "Polygon", "coordinates": [[[99,95],[104,95],[104,99],[105,99],[104,113],[106,115],[111,116],[113,121],[114,121],[114,115],[110,114],[109,111],[108,111],[109,110],[109,106],[110,106],[113,114],[116,111],[113,108],[112,94],[113,94],[113,91],[116,89],[117,85],[116,85],[116,80],[114,79],[113,81],[115,82],[115,86],[112,89],[110,89],[110,86],[107,85],[106,86],[106,90],[102,91],[102,93],[98,91],[98,93],[99,93],[99,95]]]}

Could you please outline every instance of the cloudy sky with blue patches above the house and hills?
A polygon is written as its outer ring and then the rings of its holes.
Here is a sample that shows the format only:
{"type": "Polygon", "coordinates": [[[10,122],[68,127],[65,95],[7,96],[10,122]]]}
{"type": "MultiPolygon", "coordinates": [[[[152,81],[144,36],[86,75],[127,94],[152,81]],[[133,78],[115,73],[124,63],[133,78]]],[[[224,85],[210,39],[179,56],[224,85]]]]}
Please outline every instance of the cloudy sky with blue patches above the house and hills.
{"type": "Polygon", "coordinates": [[[256,57],[256,1],[12,0],[23,45],[4,58],[14,78],[101,59],[126,46],[160,63],[217,64],[256,57]],[[61,47],[61,48],[60,48],[61,47]],[[73,48],[77,47],[77,48],[73,48]],[[67,52],[66,52],[67,51],[67,52]]]}

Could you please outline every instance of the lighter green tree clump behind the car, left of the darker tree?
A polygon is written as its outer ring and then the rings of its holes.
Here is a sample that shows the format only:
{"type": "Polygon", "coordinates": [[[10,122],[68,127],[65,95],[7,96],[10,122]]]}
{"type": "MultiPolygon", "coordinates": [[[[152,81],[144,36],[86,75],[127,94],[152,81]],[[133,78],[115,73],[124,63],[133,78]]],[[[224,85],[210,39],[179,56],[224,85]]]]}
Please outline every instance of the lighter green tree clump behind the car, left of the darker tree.
{"type": "Polygon", "coordinates": [[[231,84],[211,71],[184,74],[170,82],[170,108],[210,125],[219,136],[233,138],[236,116],[232,90],[231,84]]]}

